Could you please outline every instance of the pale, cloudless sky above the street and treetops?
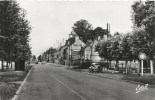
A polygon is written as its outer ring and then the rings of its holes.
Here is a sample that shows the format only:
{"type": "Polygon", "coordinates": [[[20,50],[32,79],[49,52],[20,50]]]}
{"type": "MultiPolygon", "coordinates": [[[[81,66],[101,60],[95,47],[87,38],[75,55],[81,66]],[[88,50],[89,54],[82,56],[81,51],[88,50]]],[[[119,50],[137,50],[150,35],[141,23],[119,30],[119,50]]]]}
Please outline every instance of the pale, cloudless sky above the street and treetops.
{"type": "Polygon", "coordinates": [[[127,33],[132,31],[131,5],[133,1],[51,1],[19,0],[20,7],[26,10],[32,26],[30,45],[32,54],[39,56],[49,47],[58,47],[69,38],[72,26],[81,19],[87,20],[93,28],[110,32],[127,33]]]}

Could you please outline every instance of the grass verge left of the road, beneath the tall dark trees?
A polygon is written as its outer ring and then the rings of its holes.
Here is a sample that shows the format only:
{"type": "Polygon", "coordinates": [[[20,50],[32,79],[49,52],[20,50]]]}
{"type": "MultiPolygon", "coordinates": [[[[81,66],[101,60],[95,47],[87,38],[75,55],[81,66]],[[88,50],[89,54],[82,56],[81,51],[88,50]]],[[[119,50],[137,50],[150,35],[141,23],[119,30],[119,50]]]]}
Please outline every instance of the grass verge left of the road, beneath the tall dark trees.
{"type": "Polygon", "coordinates": [[[25,71],[0,72],[0,100],[11,100],[20,86],[18,81],[24,80],[31,67],[26,66],[25,71]]]}

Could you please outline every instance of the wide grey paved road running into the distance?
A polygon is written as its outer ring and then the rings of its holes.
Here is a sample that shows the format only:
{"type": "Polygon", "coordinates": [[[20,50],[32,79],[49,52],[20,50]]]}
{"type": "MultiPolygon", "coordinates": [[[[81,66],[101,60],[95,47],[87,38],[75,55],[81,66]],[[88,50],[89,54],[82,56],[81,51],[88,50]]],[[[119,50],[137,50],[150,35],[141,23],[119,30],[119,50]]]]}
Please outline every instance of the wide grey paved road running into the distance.
{"type": "Polygon", "coordinates": [[[136,87],[128,82],[38,64],[18,100],[155,100],[155,88],[136,94],[136,87]]]}

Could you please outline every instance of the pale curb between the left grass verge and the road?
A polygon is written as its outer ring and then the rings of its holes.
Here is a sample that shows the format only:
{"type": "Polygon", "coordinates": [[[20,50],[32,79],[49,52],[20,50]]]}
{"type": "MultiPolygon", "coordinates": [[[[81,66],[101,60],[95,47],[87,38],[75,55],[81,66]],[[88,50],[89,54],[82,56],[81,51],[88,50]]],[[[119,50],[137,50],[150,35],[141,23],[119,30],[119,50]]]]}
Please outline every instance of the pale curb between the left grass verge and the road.
{"type": "Polygon", "coordinates": [[[28,74],[26,75],[24,81],[22,82],[22,84],[20,85],[20,87],[18,88],[18,90],[16,91],[14,97],[13,97],[11,100],[17,100],[17,99],[18,99],[18,95],[19,95],[21,89],[23,88],[24,84],[26,83],[26,80],[27,80],[29,74],[31,73],[31,70],[32,70],[32,68],[29,70],[29,72],[28,72],[28,74]]]}

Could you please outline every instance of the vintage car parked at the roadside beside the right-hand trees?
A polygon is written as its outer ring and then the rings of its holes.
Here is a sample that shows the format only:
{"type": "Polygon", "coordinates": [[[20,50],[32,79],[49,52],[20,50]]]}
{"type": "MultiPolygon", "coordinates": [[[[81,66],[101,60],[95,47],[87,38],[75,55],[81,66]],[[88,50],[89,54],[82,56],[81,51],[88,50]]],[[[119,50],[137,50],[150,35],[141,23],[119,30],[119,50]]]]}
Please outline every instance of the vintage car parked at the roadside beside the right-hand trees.
{"type": "Polygon", "coordinates": [[[102,72],[102,67],[100,66],[99,63],[92,63],[91,66],[89,67],[89,73],[93,72],[102,72]]]}

